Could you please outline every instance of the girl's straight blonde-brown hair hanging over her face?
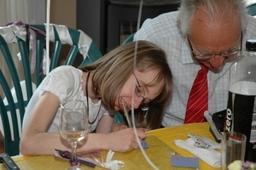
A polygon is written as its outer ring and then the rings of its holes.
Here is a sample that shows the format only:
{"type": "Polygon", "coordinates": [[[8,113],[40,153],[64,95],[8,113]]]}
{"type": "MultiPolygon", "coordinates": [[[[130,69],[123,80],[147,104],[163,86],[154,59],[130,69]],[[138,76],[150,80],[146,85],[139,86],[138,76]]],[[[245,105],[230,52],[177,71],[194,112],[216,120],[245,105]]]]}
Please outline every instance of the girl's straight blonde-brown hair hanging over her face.
{"type": "Polygon", "coordinates": [[[166,54],[161,48],[148,41],[129,42],[114,48],[95,63],[80,67],[80,69],[94,72],[93,83],[97,89],[96,93],[101,95],[103,103],[110,110],[113,110],[115,100],[119,98],[121,89],[134,70],[158,71],[154,82],[148,86],[158,86],[158,82],[163,81],[164,85],[161,87],[160,95],[149,103],[145,120],[143,119],[144,111],[138,108],[135,112],[137,127],[151,129],[160,127],[164,107],[172,94],[172,71],[167,63],[166,54]],[[157,111],[154,108],[157,108],[157,111]]]}

